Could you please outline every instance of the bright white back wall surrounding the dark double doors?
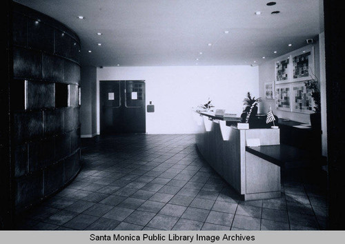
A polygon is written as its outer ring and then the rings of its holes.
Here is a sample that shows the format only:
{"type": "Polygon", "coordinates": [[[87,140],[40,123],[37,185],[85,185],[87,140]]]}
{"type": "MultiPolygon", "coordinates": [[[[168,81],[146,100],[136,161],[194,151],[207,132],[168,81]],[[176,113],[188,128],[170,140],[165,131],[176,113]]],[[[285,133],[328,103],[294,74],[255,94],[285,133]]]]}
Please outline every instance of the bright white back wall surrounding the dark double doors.
{"type": "MultiPolygon", "coordinates": [[[[97,94],[103,80],[146,81],[146,104],[155,105],[146,113],[148,134],[195,133],[191,108],[208,97],[216,108],[240,115],[246,92],[259,94],[258,67],[244,65],[97,68],[97,94]]],[[[99,132],[99,98],[97,107],[99,132]]]]}

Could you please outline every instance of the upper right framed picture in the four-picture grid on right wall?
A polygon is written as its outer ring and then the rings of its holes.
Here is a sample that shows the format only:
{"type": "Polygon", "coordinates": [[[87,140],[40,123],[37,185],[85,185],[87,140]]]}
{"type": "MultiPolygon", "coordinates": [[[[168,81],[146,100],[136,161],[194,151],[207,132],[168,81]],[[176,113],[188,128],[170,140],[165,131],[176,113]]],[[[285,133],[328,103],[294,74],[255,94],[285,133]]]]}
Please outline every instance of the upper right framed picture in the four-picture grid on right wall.
{"type": "Polygon", "coordinates": [[[292,80],[306,81],[315,76],[314,47],[306,47],[291,55],[292,80]]]}

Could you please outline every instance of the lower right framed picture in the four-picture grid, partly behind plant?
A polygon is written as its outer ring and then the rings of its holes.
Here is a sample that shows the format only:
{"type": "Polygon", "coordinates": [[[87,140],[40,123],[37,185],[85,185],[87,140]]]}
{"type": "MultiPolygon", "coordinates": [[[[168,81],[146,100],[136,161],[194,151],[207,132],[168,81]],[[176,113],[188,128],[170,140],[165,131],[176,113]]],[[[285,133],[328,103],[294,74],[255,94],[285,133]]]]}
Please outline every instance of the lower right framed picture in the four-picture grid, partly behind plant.
{"type": "Polygon", "coordinates": [[[311,96],[312,91],[306,88],[304,82],[293,83],[292,92],[293,112],[302,112],[306,114],[313,113],[313,97],[311,96]]]}

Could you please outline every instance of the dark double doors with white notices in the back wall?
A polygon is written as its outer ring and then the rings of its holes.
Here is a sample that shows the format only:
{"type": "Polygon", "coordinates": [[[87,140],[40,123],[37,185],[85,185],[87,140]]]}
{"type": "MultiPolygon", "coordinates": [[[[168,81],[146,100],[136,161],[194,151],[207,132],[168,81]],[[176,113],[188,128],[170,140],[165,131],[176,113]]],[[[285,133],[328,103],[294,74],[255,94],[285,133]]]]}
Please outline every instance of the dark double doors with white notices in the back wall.
{"type": "Polygon", "coordinates": [[[101,134],[145,133],[145,82],[100,81],[101,134]]]}

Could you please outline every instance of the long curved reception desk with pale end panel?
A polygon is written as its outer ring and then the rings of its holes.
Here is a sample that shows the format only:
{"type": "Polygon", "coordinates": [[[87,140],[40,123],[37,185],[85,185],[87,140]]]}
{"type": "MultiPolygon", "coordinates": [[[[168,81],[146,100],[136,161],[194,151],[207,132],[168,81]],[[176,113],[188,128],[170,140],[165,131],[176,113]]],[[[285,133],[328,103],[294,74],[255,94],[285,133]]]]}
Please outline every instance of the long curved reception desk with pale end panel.
{"type": "Polygon", "coordinates": [[[195,119],[199,152],[245,201],[280,196],[279,165],[246,150],[248,139],[279,145],[279,129],[239,130],[221,117],[201,112],[195,119]]]}

